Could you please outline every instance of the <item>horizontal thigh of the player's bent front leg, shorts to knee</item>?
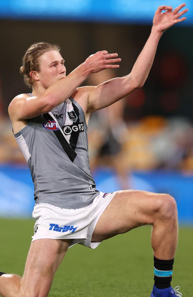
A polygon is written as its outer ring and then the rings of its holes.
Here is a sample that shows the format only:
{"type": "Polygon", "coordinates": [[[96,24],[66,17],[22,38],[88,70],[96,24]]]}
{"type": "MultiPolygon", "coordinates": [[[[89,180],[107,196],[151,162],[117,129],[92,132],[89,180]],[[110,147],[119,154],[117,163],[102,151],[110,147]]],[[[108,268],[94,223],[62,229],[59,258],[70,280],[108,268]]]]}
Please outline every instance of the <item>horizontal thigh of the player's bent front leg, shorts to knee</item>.
{"type": "Polygon", "coordinates": [[[145,191],[119,191],[99,218],[92,241],[102,241],[142,225],[152,225],[161,197],[163,194],[145,191]]]}

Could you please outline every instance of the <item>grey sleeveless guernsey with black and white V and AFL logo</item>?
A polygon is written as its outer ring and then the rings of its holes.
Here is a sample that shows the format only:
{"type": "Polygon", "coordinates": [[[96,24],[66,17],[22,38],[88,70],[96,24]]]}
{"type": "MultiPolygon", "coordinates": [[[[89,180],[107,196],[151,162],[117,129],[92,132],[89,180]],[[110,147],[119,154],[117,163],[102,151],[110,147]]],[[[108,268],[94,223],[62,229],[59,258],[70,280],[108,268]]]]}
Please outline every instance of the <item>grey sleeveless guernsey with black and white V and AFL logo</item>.
{"type": "MultiPolygon", "coordinates": [[[[30,94],[32,96],[32,94],[30,94]]],[[[29,119],[15,139],[28,162],[34,200],[60,208],[83,208],[98,195],[88,160],[87,125],[73,98],[29,119]]]]}

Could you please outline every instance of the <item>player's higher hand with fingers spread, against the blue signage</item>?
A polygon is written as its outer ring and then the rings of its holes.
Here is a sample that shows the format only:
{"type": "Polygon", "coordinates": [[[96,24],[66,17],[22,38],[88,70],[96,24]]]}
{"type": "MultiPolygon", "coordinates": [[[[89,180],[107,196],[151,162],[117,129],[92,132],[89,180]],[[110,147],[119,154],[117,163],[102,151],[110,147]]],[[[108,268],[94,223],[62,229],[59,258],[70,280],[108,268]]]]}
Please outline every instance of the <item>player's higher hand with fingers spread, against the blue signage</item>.
{"type": "Polygon", "coordinates": [[[185,3],[179,5],[174,10],[171,6],[162,5],[159,6],[155,12],[153,19],[153,28],[156,29],[159,33],[163,33],[165,30],[170,28],[176,23],[183,22],[186,20],[186,17],[180,18],[184,13],[188,11],[188,9],[184,9],[181,12],[182,7],[186,6],[185,3]],[[166,10],[166,12],[162,13],[162,10],[166,10]],[[173,10],[173,11],[172,11],[173,10]]]}

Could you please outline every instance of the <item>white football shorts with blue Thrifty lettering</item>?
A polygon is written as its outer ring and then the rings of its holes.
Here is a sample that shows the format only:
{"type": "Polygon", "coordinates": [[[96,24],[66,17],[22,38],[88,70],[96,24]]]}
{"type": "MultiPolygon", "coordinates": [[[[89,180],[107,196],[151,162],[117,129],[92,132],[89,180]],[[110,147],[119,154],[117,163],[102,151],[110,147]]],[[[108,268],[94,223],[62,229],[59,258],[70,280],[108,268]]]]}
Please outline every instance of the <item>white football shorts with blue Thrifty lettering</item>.
{"type": "Polygon", "coordinates": [[[95,249],[100,241],[91,242],[94,228],[117,192],[99,192],[90,205],[77,209],[60,208],[48,203],[36,204],[32,212],[36,220],[32,241],[42,238],[72,239],[69,247],[79,243],[95,249]]]}

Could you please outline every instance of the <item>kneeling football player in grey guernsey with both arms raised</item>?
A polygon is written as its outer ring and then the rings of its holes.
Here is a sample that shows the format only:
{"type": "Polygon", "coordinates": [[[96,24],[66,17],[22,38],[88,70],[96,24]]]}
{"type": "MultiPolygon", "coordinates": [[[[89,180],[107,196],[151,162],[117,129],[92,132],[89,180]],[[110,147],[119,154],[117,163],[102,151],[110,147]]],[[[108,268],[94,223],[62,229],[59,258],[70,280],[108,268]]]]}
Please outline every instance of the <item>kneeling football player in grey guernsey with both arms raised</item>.
{"type": "Polygon", "coordinates": [[[91,73],[117,68],[121,59],[116,53],[97,52],[66,76],[56,45],[41,42],[27,50],[20,71],[33,91],[15,97],[9,114],[34,182],[36,223],[24,275],[1,272],[1,296],[48,296],[69,246],[81,242],[95,248],[102,240],[141,225],[153,226],[151,296],[181,296],[170,285],[178,237],[174,198],[132,190],[99,193],[90,174],[86,130],[91,112],[143,86],[162,33],[186,19],[179,18],[188,11],[179,12],[185,5],[173,11],[170,6],[158,7],[150,37],[131,73],[97,87],[78,88],[91,73]]]}

